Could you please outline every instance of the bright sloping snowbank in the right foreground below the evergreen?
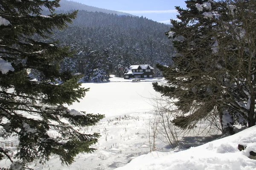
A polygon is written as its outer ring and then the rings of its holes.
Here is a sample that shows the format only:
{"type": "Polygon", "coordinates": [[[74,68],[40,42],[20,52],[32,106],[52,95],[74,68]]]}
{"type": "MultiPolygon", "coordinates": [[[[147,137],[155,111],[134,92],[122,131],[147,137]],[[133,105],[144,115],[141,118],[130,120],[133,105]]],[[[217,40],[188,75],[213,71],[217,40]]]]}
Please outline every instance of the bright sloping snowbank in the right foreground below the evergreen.
{"type": "Polygon", "coordinates": [[[251,150],[256,151],[256,126],[187,150],[148,153],[116,170],[255,170],[251,150]],[[247,147],[240,152],[238,144],[247,147]]]}

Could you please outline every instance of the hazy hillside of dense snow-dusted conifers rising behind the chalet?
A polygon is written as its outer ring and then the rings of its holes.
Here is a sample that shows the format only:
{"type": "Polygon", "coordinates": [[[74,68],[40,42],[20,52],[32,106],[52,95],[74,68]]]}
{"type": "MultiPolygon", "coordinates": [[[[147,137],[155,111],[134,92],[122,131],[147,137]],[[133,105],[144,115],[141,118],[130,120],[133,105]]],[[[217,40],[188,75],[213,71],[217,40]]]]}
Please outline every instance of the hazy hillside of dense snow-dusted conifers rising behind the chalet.
{"type": "MultiPolygon", "coordinates": [[[[171,64],[174,48],[165,36],[169,27],[144,17],[80,10],[67,29],[56,31],[51,38],[76,50],[73,59],[62,64],[63,70],[99,82],[108,80],[109,74],[120,76],[121,68],[130,65],[171,64]]],[[[160,71],[155,73],[161,76],[160,71]]]]}

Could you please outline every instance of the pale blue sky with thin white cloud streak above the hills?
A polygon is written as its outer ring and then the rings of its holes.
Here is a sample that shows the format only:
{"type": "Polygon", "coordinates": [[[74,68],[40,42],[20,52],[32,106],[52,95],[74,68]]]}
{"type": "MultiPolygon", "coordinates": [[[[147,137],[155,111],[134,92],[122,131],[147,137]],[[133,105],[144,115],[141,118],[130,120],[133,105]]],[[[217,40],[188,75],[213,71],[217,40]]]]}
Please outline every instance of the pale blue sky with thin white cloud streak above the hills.
{"type": "Polygon", "coordinates": [[[148,19],[170,23],[176,19],[175,6],[186,8],[185,0],[73,0],[89,6],[123,11],[148,19]]]}

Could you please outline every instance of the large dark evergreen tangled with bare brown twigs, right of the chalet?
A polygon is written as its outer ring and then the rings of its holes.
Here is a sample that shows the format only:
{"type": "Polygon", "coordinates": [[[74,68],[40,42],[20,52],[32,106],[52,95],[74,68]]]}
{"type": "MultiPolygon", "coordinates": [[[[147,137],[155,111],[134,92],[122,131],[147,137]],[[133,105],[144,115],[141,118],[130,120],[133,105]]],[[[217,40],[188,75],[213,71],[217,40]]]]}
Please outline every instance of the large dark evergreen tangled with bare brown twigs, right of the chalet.
{"type": "Polygon", "coordinates": [[[178,99],[173,122],[193,128],[201,120],[220,119],[222,131],[235,122],[255,125],[254,0],[187,0],[176,7],[180,21],[166,33],[174,38],[174,65],[163,71],[168,85],[154,83],[163,95],[178,99]]]}

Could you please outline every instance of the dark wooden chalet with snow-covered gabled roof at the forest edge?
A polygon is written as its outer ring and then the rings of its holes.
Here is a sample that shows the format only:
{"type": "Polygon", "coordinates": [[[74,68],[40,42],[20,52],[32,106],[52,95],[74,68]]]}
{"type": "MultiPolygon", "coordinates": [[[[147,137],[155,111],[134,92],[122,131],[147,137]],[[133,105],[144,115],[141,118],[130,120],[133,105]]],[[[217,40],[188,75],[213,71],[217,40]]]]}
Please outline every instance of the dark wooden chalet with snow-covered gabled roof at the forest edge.
{"type": "Polygon", "coordinates": [[[130,78],[153,78],[154,68],[148,64],[131,65],[126,67],[123,72],[124,79],[130,78]]]}

